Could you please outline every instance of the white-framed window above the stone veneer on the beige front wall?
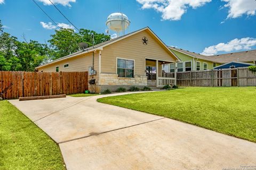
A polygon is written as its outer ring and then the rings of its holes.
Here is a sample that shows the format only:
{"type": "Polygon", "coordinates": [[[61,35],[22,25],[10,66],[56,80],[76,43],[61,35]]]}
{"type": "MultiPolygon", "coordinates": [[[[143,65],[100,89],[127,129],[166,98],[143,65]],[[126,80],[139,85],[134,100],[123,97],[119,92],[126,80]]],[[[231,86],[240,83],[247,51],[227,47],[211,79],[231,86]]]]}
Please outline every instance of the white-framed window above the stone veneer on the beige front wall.
{"type": "Polygon", "coordinates": [[[134,61],[117,58],[117,74],[121,78],[133,78],[134,61]]]}

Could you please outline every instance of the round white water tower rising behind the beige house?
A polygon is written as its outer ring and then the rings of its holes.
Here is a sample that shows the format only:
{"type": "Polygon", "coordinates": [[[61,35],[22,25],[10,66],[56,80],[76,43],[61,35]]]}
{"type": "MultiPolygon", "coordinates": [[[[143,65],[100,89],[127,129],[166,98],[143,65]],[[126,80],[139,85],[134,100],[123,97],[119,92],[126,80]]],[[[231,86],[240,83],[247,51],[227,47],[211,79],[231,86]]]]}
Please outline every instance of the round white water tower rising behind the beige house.
{"type": "Polygon", "coordinates": [[[109,29],[117,32],[117,36],[120,36],[120,33],[122,35],[125,34],[125,30],[128,29],[129,32],[129,25],[131,21],[128,19],[128,17],[123,13],[113,13],[108,16],[106,25],[108,27],[107,33],[109,34],[109,29]]]}

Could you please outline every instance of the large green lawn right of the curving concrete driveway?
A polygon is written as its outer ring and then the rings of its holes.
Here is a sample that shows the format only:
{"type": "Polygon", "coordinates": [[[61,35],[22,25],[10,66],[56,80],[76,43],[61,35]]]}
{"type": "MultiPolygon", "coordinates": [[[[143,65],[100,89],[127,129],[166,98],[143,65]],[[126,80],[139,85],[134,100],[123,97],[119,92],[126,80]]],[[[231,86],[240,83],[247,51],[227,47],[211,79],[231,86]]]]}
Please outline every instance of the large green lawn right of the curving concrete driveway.
{"type": "Polygon", "coordinates": [[[256,87],[191,87],[98,101],[256,142],[256,87]]]}

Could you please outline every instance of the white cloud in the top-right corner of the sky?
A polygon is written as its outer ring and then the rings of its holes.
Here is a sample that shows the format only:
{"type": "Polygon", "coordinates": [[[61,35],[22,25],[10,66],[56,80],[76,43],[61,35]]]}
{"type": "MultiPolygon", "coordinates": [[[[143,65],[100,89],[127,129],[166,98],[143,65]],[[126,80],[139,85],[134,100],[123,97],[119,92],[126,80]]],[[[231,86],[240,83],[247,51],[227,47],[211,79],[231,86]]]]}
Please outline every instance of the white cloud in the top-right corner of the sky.
{"type": "Polygon", "coordinates": [[[221,0],[226,2],[224,7],[228,7],[227,18],[237,18],[243,14],[255,15],[256,1],[255,0],[221,0]]]}

